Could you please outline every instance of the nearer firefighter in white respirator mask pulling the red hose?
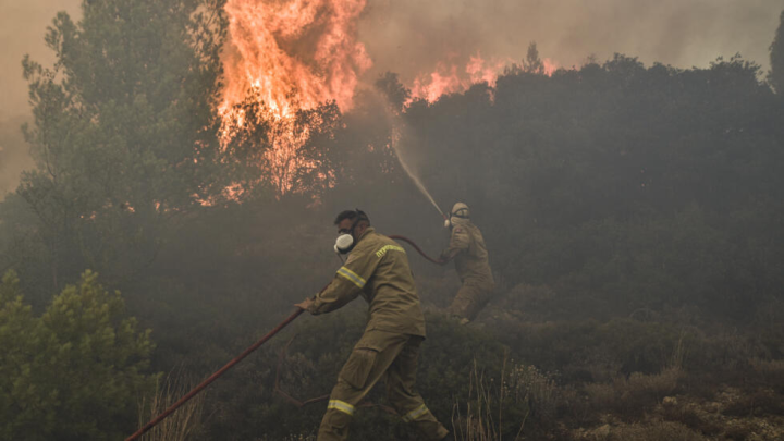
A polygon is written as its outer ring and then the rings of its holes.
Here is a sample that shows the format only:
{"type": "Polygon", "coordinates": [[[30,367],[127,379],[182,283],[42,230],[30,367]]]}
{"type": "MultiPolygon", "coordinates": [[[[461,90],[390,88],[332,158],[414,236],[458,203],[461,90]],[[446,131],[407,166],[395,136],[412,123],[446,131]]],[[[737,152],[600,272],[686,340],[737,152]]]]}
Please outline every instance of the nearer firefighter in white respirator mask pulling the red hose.
{"type": "Polygon", "coordinates": [[[405,250],[376,233],[360,210],[341,212],[335,224],[340,234],[335,250],[348,253],[348,259],[324,291],[296,306],[318,315],[362,295],[369,304],[369,319],[338,376],[318,441],[345,440],[356,405],[379,380],[387,384],[390,403],[406,422],[428,440],[445,439],[449,430],[414,390],[425,317],[405,250]]]}

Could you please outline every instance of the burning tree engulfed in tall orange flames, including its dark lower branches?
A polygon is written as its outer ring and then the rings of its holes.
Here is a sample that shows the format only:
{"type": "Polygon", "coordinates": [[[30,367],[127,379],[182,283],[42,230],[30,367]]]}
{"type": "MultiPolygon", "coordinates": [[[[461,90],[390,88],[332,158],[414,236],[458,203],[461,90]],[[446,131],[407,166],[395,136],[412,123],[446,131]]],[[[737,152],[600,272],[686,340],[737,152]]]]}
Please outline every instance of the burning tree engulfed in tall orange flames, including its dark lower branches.
{"type": "Polygon", "coordinates": [[[370,65],[357,41],[364,0],[230,0],[225,86],[219,113],[234,156],[233,197],[331,185],[326,166],[340,112],[353,107],[370,65]]]}

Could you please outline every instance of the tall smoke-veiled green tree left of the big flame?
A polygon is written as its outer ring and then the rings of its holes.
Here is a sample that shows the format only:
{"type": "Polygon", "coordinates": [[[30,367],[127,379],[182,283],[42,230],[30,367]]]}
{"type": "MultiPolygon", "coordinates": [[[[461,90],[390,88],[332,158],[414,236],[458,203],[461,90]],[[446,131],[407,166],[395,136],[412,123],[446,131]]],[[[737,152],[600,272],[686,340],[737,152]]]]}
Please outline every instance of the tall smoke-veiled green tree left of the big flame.
{"type": "Polygon", "coordinates": [[[176,219],[225,186],[212,112],[222,1],[85,1],[82,12],[48,28],[53,66],[24,60],[36,168],[17,194],[35,222],[3,224],[11,237],[34,228],[49,290],[86,267],[135,274],[176,219]]]}

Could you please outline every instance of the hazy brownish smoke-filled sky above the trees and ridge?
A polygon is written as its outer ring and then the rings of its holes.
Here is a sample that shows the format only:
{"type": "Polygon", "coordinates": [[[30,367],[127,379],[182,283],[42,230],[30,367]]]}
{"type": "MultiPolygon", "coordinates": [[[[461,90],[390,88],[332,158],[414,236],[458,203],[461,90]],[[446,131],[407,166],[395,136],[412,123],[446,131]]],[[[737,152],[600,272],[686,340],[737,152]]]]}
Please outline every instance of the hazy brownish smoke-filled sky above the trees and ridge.
{"type": "MultiPolygon", "coordinates": [[[[28,112],[22,57],[51,63],[46,26],[58,11],[77,15],[79,3],[0,0],[0,118],[28,112]]],[[[359,40],[373,60],[370,82],[393,71],[407,83],[476,54],[518,61],[530,41],[561,66],[614,52],[681,68],[740,52],[767,66],[782,9],[782,0],[368,0],[359,40]]]]}

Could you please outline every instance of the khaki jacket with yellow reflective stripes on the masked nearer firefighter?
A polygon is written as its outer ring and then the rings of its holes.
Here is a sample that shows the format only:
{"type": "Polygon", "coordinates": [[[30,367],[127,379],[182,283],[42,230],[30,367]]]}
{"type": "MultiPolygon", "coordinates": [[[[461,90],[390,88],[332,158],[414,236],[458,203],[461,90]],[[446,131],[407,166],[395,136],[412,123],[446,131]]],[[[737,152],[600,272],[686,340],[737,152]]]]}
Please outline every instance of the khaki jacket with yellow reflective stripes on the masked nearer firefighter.
{"type": "Polygon", "coordinates": [[[373,228],[363,233],[345,265],[308,310],[329,313],[358,295],[369,304],[366,331],[425,336],[425,316],[405,249],[373,228]]]}

